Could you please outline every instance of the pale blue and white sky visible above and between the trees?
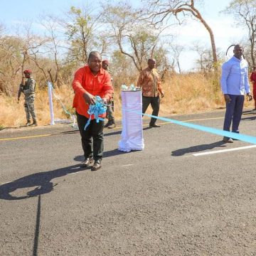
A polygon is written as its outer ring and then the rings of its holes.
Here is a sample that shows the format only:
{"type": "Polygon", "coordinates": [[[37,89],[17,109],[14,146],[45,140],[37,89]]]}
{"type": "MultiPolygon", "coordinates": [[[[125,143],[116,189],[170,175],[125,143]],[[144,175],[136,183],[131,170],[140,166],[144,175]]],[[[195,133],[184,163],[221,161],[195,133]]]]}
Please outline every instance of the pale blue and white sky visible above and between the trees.
{"type": "MultiPolygon", "coordinates": [[[[135,4],[138,1],[132,0],[130,2],[135,4]]],[[[95,5],[100,4],[99,0],[0,0],[0,23],[3,23],[7,31],[11,33],[18,24],[26,21],[36,22],[39,16],[44,14],[63,17],[70,6],[82,7],[85,6],[86,2],[95,5]]],[[[196,5],[196,7],[213,30],[216,47],[225,53],[228,46],[242,41],[242,38],[246,36],[245,30],[235,26],[233,16],[220,14],[220,11],[228,6],[230,0],[204,0],[203,2],[203,6],[196,5]]],[[[189,46],[198,41],[201,45],[210,47],[208,31],[203,24],[192,19],[184,26],[170,27],[169,30],[169,33],[175,34],[175,44],[186,46],[186,50],[181,53],[181,70],[192,70],[196,65],[195,61],[198,56],[189,50],[189,46]]]]}

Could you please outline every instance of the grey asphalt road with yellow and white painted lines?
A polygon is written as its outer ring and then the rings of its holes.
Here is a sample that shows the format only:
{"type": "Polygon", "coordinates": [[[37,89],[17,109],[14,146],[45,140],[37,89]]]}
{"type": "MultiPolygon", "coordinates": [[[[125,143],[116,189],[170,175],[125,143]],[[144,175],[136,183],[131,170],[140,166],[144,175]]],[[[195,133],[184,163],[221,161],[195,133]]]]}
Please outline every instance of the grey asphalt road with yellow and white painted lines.
{"type": "MultiPolygon", "coordinates": [[[[223,114],[171,118],[222,129],[223,114]]],[[[124,153],[121,130],[105,129],[99,171],[79,167],[69,125],[0,132],[0,255],[256,255],[256,147],[163,123],[124,153]]]]}

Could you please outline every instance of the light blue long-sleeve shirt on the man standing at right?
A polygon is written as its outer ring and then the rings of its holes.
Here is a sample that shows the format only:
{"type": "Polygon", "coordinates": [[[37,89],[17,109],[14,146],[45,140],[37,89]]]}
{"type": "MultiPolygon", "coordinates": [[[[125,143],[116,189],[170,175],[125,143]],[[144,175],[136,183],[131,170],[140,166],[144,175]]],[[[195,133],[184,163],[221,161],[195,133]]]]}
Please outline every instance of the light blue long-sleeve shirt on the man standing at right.
{"type": "Polygon", "coordinates": [[[223,94],[245,95],[245,92],[250,92],[247,61],[233,56],[223,63],[220,85],[223,94]]]}

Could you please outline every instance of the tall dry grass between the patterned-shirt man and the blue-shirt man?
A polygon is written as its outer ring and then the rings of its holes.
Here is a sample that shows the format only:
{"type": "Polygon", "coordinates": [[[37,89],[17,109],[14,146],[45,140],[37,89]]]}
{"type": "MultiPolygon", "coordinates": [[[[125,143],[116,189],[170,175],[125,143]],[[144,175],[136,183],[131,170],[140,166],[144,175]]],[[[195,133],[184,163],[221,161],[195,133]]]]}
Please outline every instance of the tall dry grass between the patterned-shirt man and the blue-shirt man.
{"type": "Polygon", "coordinates": [[[161,114],[194,113],[224,107],[222,93],[214,82],[213,77],[207,78],[201,73],[171,75],[163,83],[165,96],[161,100],[161,114]]]}

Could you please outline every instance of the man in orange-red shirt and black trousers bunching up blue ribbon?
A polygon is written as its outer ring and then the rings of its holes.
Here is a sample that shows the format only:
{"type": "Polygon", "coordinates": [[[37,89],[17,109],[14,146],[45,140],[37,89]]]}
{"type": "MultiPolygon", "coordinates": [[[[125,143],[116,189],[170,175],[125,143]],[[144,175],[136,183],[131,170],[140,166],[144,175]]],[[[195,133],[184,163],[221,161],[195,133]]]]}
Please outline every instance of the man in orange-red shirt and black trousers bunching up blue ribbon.
{"type": "MultiPolygon", "coordinates": [[[[108,102],[114,92],[110,74],[102,69],[102,58],[100,53],[92,51],[89,54],[87,65],[79,68],[75,72],[73,89],[75,91],[73,107],[75,107],[75,112],[77,114],[82,149],[85,156],[85,161],[82,161],[80,166],[89,166],[94,159],[92,171],[96,171],[101,168],[104,121],[99,120],[99,122],[96,122],[96,119],[92,114],[92,120],[89,126],[85,129],[85,124],[90,117],[90,114],[88,114],[87,111],[91,104],[95,105],[95,96],[100,96],[104,102],[108,102]]],[[[99,117],[104,118],[105,116],[106,113],[99,117]]]]}

